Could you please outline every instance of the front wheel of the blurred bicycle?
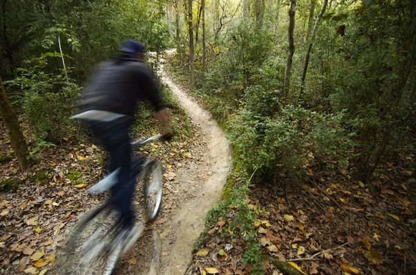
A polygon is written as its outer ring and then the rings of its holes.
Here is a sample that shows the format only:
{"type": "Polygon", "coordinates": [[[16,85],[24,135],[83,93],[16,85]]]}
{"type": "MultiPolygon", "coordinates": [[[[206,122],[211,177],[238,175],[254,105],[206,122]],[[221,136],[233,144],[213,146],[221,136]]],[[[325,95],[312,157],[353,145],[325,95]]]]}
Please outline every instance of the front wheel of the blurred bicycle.
{"type": "Polygon", "coordinates": [[[162,167],[157,161],[153,160],[144,167],[143,184],[146,222],[153,222],[162,203],[162,167]]]}

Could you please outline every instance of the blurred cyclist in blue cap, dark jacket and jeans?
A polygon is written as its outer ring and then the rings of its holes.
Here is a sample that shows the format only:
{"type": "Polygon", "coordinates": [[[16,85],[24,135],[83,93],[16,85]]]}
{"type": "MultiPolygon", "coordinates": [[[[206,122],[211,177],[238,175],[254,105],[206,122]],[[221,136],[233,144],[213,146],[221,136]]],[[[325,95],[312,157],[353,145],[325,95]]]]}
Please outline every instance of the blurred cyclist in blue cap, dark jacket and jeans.
{"type": "MultiPolygon", "coordinates": [[[[171,138],[168,114],[150,69],[144,65],[145,47],[125,40],[114,60],[102,63],[83,92],[85,122],[110,153],[110,172],[117,170],[117,183],[111,199],[120,213],[125,239],[135,238],[139,226],[133,226],[132,196],[135,181],[131,177],[131,147],[128,131],[138,101],[150,101],[162,124],[163,137],[171,138]]],[[[131,245],[131,242],[129,242],[131,245]]]]}

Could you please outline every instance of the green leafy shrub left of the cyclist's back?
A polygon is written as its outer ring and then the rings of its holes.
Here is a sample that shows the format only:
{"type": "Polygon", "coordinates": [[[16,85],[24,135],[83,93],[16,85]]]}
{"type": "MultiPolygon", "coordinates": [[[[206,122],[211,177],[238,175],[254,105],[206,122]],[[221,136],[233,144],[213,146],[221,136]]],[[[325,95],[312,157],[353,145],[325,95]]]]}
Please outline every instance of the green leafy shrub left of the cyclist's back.
{"type": "Polygon", "coordinates": [[[31,133],[37,141],[59,142],[73,127],[73,115],[80,88],[61,73],[46,73],[49,58],[60,58],[60,53],[44,53],[18,70],[19,76],[6,84],[11,90],[24,92],[20,101],[31,133]]]}

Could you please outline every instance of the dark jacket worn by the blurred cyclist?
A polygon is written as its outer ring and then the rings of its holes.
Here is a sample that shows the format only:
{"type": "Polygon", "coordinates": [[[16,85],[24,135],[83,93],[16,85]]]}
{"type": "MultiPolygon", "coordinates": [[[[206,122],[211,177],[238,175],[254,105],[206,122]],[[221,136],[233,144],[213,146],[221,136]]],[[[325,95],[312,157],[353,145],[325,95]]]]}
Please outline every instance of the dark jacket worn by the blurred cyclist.
{"type": "Polygon", "coordinates": [[[150,69],[137,60],[119,58],[101,64],[87,83],[81,108],[134,116],[137,101],[146,100],[156,112],[164,108],[150,69]]]}

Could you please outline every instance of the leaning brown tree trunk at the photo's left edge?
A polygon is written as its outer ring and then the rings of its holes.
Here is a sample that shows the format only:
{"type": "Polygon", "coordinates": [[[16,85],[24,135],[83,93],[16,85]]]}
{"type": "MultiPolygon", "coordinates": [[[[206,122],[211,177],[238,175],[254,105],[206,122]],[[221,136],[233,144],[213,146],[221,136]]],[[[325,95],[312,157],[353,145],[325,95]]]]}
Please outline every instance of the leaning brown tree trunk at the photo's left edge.
{"type": "Polygon", "coordinates": [[[13,107],[8,101],[6,90],[4,89],[3,81],[0,77],[0,114],[3,116],[4,123],[10,135],[10,144],[12,145],[13,151],[15,151],[17,162],[21,171],[28,169],[28,146],[26,140],[24,140],[23,133],[21,133],[19,120],[13,107]]]}

